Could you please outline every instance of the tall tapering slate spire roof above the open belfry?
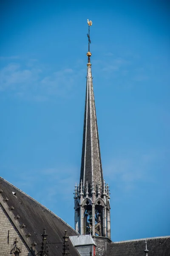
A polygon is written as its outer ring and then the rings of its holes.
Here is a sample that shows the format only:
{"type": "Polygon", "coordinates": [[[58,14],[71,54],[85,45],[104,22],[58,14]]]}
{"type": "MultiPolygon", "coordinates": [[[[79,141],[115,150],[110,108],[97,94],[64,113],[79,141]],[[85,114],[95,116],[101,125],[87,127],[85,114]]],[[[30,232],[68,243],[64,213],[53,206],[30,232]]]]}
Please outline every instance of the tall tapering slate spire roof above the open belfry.
{"type": "Polygon", "coordinates": [[[91,196],[91,185],[93,182],[94,189],[96,189],[96,185],[99,183],[103,189],[102,163],[92,80],[91,66],[88,66],[80,182],[81,180],[83,181],[84,194],[86,192],[86,182],[88,182],[89,196],[91,196]]]}

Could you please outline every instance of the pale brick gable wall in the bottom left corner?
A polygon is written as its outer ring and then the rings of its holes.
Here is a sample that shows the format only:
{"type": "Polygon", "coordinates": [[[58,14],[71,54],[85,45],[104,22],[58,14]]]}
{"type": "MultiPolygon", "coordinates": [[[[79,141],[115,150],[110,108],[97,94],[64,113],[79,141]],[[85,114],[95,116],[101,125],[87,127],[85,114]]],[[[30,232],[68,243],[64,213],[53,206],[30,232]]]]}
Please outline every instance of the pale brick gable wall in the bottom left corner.
{"type": "Polygon", "coordinates": [[[20,256],[32,256],[31,251],[0,204],[0,256],[13,256],[10,252],[15,246],[16,238],[18,241],[17,247],[21,249],[20,256]]]}

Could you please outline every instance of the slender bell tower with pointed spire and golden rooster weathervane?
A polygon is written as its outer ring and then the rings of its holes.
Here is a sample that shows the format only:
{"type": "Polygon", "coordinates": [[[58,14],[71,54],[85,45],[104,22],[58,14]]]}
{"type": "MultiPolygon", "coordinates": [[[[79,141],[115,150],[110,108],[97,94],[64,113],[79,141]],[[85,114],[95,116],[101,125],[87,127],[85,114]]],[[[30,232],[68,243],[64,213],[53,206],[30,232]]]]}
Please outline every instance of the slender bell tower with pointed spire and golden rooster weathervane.
{"type": "Polygon", "coordinates": [[[82,162],[79,184],[74,190],[75,230],[80,235],[92,234],[111,239],[110,193],[103,179],[99,147],[93,78],[91,73],[90,26],[88,21],[88,64],[82,162]]]}

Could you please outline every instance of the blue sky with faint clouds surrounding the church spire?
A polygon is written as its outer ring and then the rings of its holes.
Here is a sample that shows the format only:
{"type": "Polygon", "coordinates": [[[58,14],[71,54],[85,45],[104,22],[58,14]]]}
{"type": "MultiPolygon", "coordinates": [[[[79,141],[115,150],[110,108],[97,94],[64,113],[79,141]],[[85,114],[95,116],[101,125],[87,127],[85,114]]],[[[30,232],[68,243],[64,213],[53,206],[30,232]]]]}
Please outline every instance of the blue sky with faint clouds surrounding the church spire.
{"type": "Polygon", "coordinates": [[[170,5],[5,1],[0,175],[74,227],[88,50],[113,241],[170,235],[170,5]]]}

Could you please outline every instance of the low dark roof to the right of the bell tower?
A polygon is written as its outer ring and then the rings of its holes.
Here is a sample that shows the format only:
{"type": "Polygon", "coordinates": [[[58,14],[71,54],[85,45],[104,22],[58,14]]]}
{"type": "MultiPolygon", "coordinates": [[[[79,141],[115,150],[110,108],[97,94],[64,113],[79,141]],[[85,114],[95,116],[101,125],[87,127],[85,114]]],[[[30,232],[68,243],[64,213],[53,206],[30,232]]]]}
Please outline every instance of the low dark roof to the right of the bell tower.
{"type": "Polygon", "coordinates": [[[107,256],[145,256],[147,240],[148,256],[170,256],[170,237],[156,237],[108,244],[107,256]]]}

